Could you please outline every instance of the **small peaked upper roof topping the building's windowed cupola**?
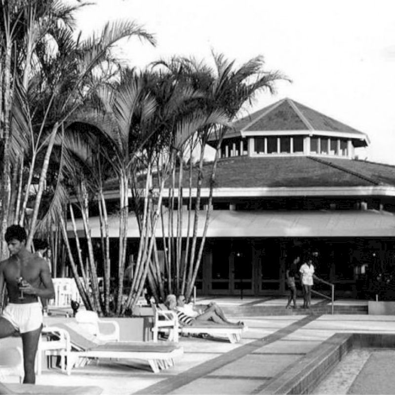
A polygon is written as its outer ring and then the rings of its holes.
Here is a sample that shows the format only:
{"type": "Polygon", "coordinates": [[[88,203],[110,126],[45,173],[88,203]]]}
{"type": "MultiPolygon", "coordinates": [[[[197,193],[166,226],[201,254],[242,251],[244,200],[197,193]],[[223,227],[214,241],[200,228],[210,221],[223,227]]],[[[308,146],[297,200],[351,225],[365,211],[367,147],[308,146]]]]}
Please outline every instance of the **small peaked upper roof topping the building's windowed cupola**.
{"type": "Polygon", "coordinates": [[[336,133],[360,134],[361,138],[366,137],[364,133],[351,126],[327,117],[294,100],[285,98],[236,120],[233,123],[233,130],[230,130],[225,138],[241,136],[241,133],[246,131],[287,130],[333,131],[336,133]]]}

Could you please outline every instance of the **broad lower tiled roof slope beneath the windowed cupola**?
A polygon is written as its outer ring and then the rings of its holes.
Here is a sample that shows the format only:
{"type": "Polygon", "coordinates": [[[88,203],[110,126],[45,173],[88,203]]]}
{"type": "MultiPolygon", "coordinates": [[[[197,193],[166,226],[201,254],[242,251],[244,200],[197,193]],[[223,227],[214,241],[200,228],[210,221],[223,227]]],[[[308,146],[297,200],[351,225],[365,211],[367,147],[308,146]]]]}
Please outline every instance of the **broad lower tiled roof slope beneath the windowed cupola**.
{"type": "MultiPolygon", "coordinates": [[[[203,187],[209,186],[211,167],[203,167],[203,187]]],[[[395,185],[395,166],[351,159],[234,157],[218,161],[215,180],[216,188],[246,189],[395,185]]]]}

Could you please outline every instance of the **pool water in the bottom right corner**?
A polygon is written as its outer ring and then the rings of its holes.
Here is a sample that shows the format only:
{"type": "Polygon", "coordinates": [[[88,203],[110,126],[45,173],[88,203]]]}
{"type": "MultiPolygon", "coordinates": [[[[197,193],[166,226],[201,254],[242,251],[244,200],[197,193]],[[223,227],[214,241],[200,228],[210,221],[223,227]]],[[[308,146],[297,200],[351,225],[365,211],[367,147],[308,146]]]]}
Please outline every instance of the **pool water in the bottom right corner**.
{"type": "Polygon", "coordinates": [[[350,351],[312,394],[395,394],[395,350],[350,351]]]}

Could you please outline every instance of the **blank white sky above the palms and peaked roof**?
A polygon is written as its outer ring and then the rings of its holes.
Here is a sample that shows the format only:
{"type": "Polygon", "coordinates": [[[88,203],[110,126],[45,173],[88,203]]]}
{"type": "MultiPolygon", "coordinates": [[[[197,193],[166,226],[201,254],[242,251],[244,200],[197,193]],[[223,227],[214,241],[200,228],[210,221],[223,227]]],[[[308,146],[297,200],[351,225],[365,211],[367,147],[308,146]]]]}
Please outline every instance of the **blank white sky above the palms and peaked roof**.
{"type": "Polygon", "coordinates": [[[360,159],[395,165],[394,0],[96,0],[77,13],[83,37],[107,21],[134,20],[157,45],[134,38],[117,53],[144,68],[173,55],[210,62],[211,50],[292,82],[263,92],[249,112],[289,97],[366,133],[360,159]]]}

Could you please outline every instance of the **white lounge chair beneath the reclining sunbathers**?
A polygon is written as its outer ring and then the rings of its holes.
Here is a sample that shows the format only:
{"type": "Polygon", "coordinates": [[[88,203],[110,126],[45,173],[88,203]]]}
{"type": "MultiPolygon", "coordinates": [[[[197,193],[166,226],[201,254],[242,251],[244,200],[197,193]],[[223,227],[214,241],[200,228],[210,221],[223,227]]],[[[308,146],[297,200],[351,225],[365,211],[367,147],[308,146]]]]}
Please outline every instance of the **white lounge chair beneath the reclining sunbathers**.
{"type": "MultiPolygon", "coordinates": [[[[154,308],[154,326],[153,333],[158,334],[158,332],[167,332],[169,333],[168,327],[166,327],[166,322],[170,321],[170,318],[166,318],[168,313],[172,313],[174,316],[177,316],[175,312],[168,310],[164,305],[159,305],[160,309],[154,308]],[[160,320],[159,317],[162,316],[163,319],[160,320]]],[[[225,337],[231,343],[239,343],[241,341],[242,333],[247,329],[244,327],[236,327],[227,324],[218,324],[216,322],[211,321],[195,321],[195,325],[185,325],[181,322],[178,322],[178,333],[180,335],[203,335],[207,334],[212,337],[225,337]]],[[[175,327],[175,325],[174,325],[175,327]]],[[[171,339],[171,333],[169,333],[169,338],[171,339]]],[[[158,335],[156,335],[158,336],[158,335]]],[[[178,340],[178,339],[177,339],[178,340]]]]}

